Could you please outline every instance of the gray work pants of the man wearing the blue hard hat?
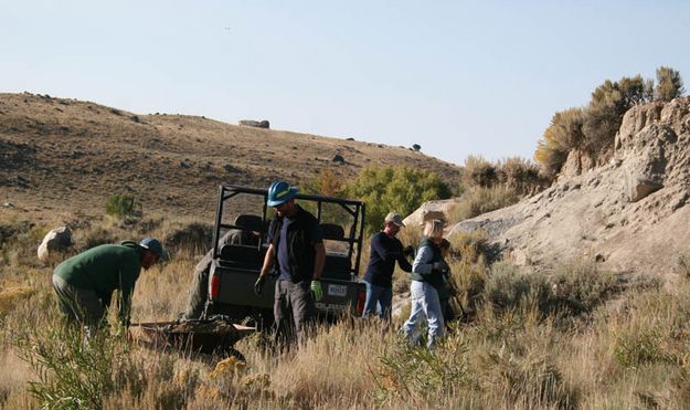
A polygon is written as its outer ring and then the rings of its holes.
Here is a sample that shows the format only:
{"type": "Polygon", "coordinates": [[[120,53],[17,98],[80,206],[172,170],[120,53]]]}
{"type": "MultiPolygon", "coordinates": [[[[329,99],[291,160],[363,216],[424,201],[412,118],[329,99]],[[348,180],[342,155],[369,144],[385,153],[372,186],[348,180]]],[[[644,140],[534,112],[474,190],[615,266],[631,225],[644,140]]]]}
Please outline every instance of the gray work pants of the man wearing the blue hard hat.
{"type": "Polygon", "coordinates": [[[276,336],[285,344],[299,345],[307,340],[316,317],[316,306],[309,281],[293,283],[276,281],[273,315],[276,322],[276,336]]]}

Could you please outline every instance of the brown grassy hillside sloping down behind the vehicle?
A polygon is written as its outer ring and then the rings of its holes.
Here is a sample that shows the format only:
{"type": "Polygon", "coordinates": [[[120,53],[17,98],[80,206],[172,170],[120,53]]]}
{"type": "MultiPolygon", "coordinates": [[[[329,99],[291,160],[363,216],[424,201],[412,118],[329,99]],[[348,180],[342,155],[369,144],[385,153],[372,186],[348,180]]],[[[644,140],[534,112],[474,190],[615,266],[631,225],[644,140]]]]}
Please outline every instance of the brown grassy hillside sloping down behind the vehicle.
{"type": "Polygon", "coordinates": [[[220,183],[299,183],[323,169],[347,180],[371,165],[429,169],[458,183],[457,166],[402,147],[0,94],[0,202],[15,209],[102,214],[110,195],[131,193],[145,212],[209,219],[220,183]]]}

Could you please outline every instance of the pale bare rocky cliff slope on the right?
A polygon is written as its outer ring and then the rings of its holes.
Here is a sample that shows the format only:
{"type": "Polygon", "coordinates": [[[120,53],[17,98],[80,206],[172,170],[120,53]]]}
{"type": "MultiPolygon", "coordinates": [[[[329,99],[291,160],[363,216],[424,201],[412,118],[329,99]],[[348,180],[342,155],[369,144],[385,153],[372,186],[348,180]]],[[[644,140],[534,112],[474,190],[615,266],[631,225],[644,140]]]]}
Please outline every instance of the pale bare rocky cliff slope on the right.
{"type": "Polygon", "coordinates": [[[690,97],[683,97],[628,111],[609,164],[562,176],[449,234],[484,229],[523,265],[585,257],[607,269],[664,274],[690,250],[689,199],[690,97]]]}

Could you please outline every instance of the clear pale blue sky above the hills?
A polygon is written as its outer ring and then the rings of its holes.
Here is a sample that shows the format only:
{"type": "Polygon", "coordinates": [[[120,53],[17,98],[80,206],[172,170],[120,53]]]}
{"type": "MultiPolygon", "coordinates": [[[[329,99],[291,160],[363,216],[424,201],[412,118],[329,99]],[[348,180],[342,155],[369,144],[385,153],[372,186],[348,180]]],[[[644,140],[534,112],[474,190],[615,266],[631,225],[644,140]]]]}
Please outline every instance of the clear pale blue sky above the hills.
{"type": "Polygon", "coordinates": [[[554,112],[660,65],[690,1],[1,0],[0,92],[204,115],[440,159],[531,158],[554,112]],[[289,4],[289,6],[288,6],[289,4]]]}

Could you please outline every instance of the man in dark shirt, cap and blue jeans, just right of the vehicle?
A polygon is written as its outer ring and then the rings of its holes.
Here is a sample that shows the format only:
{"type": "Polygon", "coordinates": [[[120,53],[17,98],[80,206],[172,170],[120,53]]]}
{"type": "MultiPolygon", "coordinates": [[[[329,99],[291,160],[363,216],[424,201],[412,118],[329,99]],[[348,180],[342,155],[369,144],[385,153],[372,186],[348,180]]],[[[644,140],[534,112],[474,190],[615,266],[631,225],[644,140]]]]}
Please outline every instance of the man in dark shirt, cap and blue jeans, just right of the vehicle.
{"type": "Polygon", "coordinates": [[[364,274],[367,301],[363,317],[375,313],[378,304],[381,309],[379,316],[390,320],[395,262],[397,261],[403,271],[412,272],[412,265],[403,255],[403,244],[395,238],[402,227],[404,227],[403,217],[397,212],[391,212],[385,217],[383,231],[371,238],[369,265],[364,274]]]}

